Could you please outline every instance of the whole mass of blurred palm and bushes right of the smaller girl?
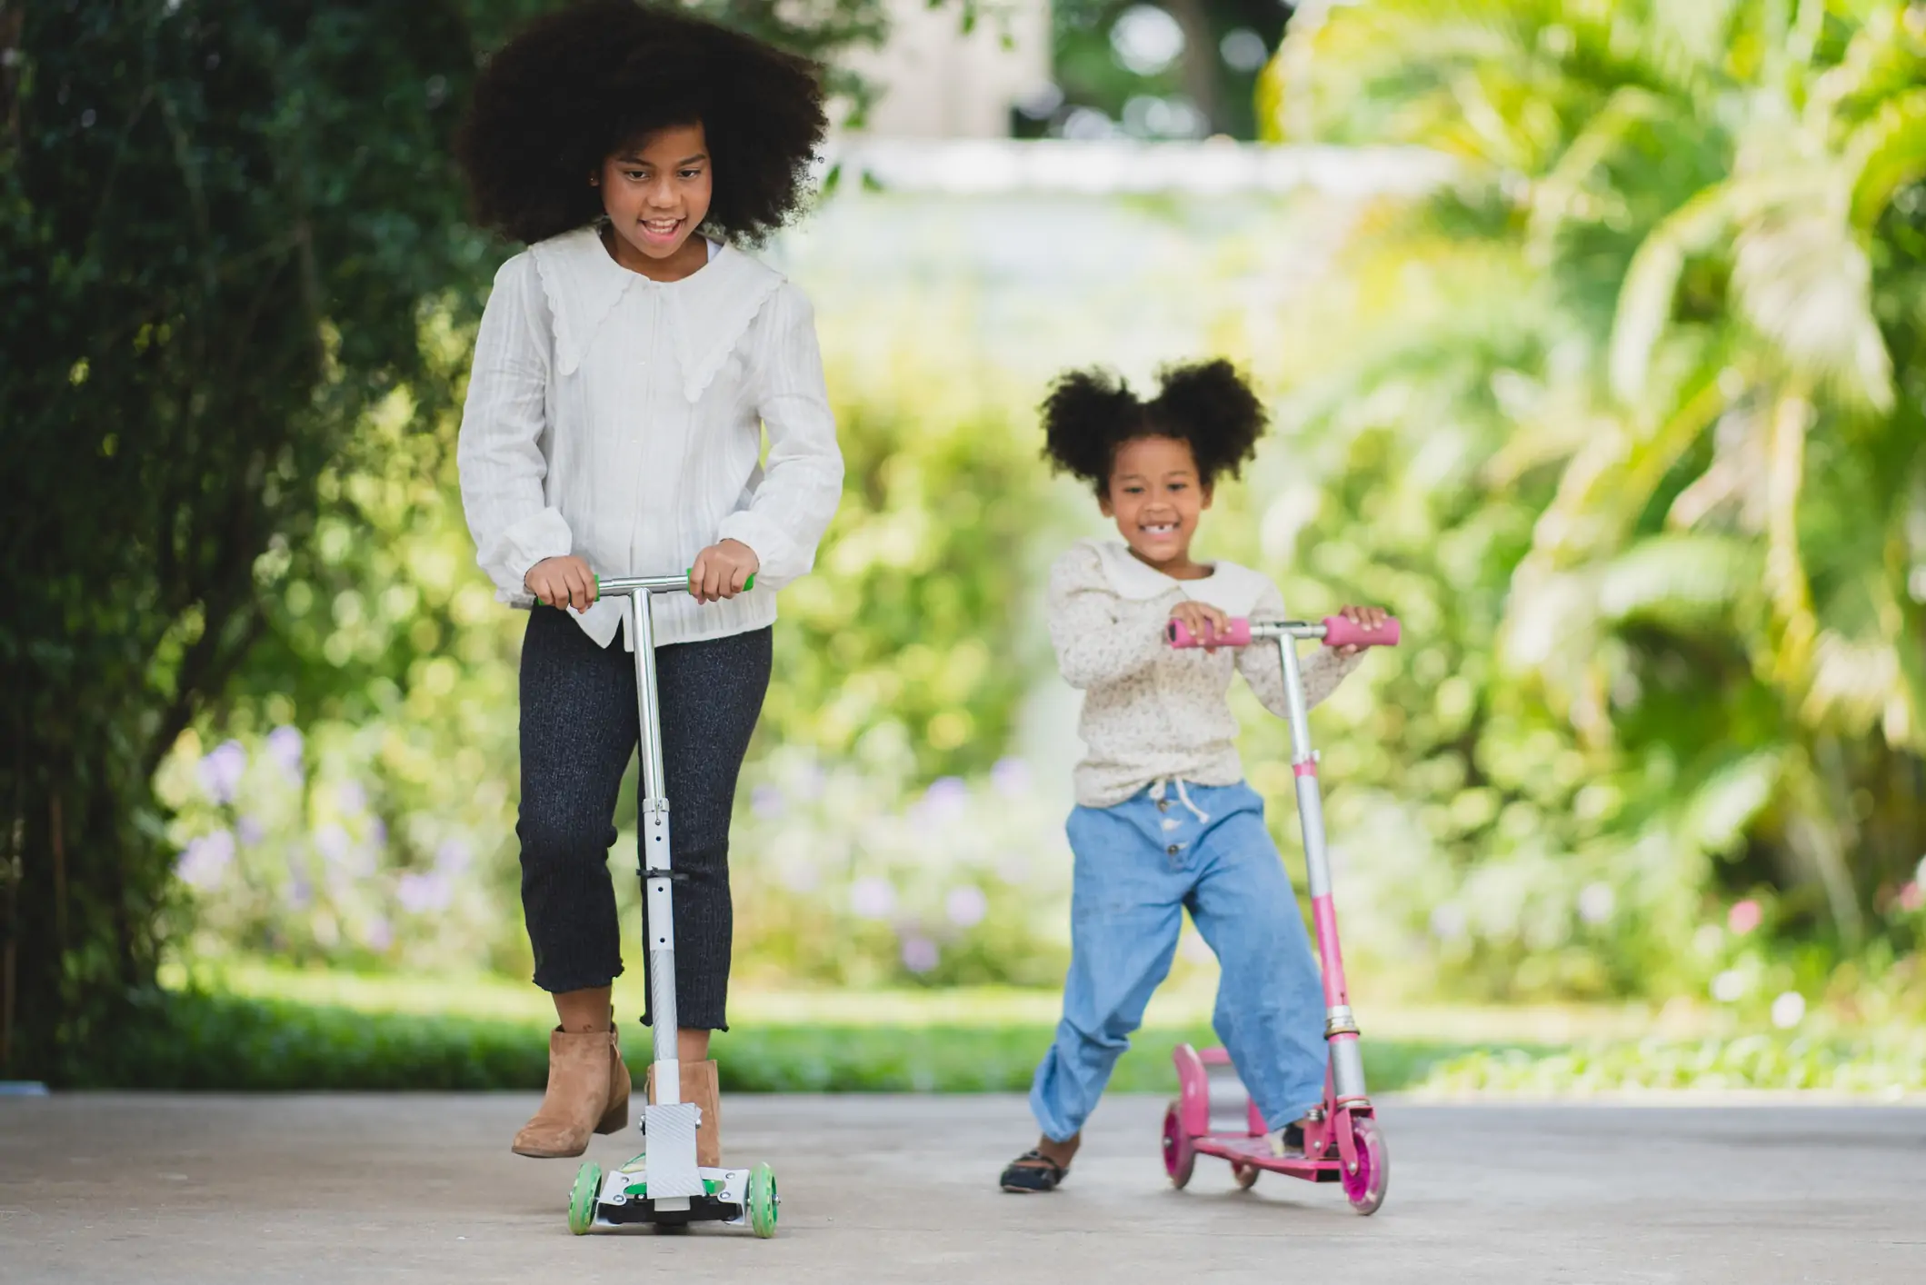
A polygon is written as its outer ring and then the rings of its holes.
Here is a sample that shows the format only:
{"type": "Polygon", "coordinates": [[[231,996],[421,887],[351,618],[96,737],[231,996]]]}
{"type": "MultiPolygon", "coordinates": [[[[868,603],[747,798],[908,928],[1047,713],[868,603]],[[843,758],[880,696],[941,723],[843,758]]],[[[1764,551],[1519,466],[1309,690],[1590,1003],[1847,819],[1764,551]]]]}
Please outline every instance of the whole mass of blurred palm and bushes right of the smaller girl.
{"type": "Polygon", "coordinates": [[[1922,39],[1901,4],[1383,0],[1273,64],[1273,137],[1456,162],[1300,328],[1325,499],[1279,518],[1414,618],[1418,686],[1346,711],[1408,757],[1335,771],[1371,786],[1335,817],[1448,977],[1699,988],[1755,896],[1782,948],[1913,948],[1874,915],[1926,850],[1922,39]]]}

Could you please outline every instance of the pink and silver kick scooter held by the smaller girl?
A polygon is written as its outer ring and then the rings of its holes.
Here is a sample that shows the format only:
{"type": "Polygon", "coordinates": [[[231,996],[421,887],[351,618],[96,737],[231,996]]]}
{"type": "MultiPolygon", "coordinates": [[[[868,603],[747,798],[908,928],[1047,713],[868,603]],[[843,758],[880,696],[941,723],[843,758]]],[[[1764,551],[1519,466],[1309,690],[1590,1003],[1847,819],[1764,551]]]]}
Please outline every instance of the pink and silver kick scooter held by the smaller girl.
{"type": "Polygon", "coordinates": [[[1317,794],[1317,751],[1312,749],[1304,678],[1298,670],[1296,642],[1310,638],[1327,647],[1394,647],[1398,622],[1387,620],[1364,630],[1344,616],[1325,616],[1319,624],[1300,620],[1233,620],[1223,638],[1198,638],[1171,620],[1173,647],[1248,647],[1258,640],[1277,643],[1285,665],[1285,699],[1290,713],[1290,767],[1298,778],[1298,821],[1304,826],[1304,867],[1312,886],[1312,921],[1317,927],[1317,959],[1325,986],[1323,1106],[1304,1123],[1304,1154],[1273,1156],[1265,1141],[1256,1102],[1221,1048],[1198,1052],[1179,1044],[1177,1100],[1163,1114],[1163,1167],[1171,1183],[1184,1187],[1196,1158],[1219,1156],[1231,1162],[1238,1187],[1250,1187],[1258,1173],[1288,1173],[1308,1183],[1342,1183],[1350,1208],[1375,1214],[1385,1202],[1391,1158],[1377,1131],[1371,1100],[1364,1092],[1364,1056],[1358,1050],[1358,1021],[1344,988],[1344,957],[1337,944],[1337,909],[1331,904],[1331,859],[1325,853],[1323,800],[1317,794]]]}

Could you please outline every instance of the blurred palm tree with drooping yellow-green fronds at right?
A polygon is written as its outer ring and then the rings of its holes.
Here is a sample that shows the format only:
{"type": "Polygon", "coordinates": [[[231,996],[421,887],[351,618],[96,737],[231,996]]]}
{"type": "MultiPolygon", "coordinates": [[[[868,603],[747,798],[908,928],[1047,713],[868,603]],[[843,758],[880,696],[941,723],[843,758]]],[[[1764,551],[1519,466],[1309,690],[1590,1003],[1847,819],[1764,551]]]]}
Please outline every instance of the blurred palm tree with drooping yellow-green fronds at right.
{"type": "Polygon", "coordinates": [[[1539,495],[1489,699],[1658,773],[1622,844],[1845,944],[1926,848],[1922,56],[1897,2],[1314,4],[1262,108],[1458,162],[1308,414],[1539,495]]]}

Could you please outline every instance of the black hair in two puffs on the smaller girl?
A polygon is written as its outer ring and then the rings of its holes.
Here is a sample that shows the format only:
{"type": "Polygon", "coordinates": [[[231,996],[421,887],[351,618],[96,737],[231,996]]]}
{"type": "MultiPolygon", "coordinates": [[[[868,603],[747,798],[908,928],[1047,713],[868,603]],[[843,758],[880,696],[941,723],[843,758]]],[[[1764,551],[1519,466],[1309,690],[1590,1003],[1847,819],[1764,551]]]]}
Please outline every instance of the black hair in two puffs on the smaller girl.
{"type": "Polygon", "coordinates": [[[1104,370],[1073,370],[1044,399],[1044,457],[1088,482],[1102,497],[1117,447],[1136,437],[1175,437],[1190,447],[1198,482],[1235,478],[1258,453],[1265,414],[1258,395],[1227,360],[1167,366],[1152,401],[1104,370]]]}

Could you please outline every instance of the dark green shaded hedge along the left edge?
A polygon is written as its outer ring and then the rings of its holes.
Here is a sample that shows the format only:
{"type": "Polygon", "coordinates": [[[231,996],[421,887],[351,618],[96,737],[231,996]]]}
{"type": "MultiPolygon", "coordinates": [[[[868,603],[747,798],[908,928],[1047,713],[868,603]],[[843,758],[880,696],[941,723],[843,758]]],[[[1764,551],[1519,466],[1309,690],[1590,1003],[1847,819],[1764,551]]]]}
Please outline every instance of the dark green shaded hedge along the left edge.
{"type": "Polygon", "coordinates": [[[150,975],[148,780],[262,636],[362,408],[474,268],[453,4],[8,6],[0,624],[10,1067],[150,975]],[[370,85],[383,92],[370,92],[370,85]]]}

